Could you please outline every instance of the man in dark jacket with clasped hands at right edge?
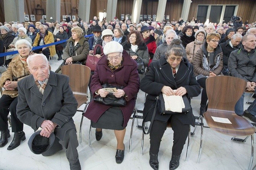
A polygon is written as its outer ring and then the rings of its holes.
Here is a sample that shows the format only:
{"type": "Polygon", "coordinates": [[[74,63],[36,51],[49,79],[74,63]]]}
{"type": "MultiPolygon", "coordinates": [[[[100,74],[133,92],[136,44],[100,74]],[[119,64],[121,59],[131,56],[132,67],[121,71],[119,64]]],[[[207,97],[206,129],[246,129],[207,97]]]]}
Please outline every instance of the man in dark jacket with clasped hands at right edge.
{"type": "MultiPolygon", "coordinates": [[[[247,82],[246,90],[254,91],[256,87],[256,37],[254,35],[245,35],[242,38],[242,45],[238,50],[232,51],[228,58],[228,69],[230,74],[247,82]]],[[[243,116],[243,98],[244,94],[235,105],[235,113],[243,116]]],[[[252,114],[244,114],[255,121],[256,117],[252,114]],[[252,119],[253,118],[253,119],[252,119]]]]}

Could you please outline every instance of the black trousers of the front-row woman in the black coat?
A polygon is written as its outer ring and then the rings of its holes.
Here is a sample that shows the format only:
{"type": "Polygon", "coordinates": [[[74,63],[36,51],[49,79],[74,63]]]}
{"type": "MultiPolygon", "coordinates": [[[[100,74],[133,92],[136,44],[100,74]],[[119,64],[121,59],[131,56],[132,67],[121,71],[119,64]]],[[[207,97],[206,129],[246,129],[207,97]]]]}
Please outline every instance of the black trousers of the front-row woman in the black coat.
{"type": "MultiPolygon", "coordinates": [[[[171,122],[173,130],[173,146],[172,154],[179,156],[182,152],[183,146],[186,143],[188,136],[189,125],[183,125],[176,117],[172,116],[169,121],[171,122]]],[[[160,143],[164,132],[167,128],[167,122],[154,120],[150,136],[150,151],[152,154],[158,154],[160,143]]]]}

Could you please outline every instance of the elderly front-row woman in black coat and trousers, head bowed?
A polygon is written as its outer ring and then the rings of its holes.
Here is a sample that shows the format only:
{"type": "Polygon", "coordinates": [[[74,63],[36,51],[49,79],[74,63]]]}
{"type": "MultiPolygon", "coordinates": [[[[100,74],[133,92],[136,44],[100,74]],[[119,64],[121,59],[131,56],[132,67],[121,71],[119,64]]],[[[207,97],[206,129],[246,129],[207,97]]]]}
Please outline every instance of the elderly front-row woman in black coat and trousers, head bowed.
{"type": "MultiPolygon", "coordinates": [[[[200,86],[193,73],[193,67],[184,56],[186,52],[182,48],[181,41],[174,39],[172,48],[167,48],[166,58],[153,61],[149,66],[149,72],[141,80],[141,90],[148,93],[143,110],[144,120],[151,121],[156,97],[163,93],[170,95],[185,95],[189,101],[191,97],[200,94],[200,86]],[[176,90],[176,91],[174,91],[176,90]]],[[[158,107],[158,106],[156,106],[158,107]]],[[[190,125],[194,126],[192,110],[188,113],[160,115],[156,109],[156,115],[152,124],[150,135],[149,164],[154,170],[158,170],[158,152],[160,142],[167,128],[167,122],[171,123],[173,134],[172,159],[169,168],[174,170],[179,166],[180,154],[188,136],[190,125]]]]}

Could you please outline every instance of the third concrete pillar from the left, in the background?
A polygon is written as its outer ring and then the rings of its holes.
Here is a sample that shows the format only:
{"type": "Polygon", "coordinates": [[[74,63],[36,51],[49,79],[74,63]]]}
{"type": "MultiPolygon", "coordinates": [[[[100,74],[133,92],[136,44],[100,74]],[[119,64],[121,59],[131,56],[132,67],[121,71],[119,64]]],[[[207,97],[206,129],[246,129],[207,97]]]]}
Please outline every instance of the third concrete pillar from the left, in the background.
{"type": "Polygon", "coordinates": [[[79,0],[78,16],[83,21],[90,21],[91,0],[79,0]]]}

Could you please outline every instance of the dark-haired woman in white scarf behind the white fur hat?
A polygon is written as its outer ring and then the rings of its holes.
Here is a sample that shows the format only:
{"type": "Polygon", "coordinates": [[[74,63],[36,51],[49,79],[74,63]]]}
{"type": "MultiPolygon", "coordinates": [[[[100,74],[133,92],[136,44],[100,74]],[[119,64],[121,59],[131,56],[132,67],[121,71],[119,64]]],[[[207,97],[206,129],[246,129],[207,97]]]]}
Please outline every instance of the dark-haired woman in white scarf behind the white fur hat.
{"type": "MultiPolygon", "coordinates": [[[[141,59],[143,60],[144,66],[146,67],[149,63],[149,55],[148,55],[148,50],[147,50],[147,45],[144,43],[143,38],[140,34],[139,31],[133,30],[130,32],[128,36],[128,42],[123,45],[123,48],[130,53],[131,51],[131,58],[136,60],[136,59],[141,59]],[[134,53],[137,53],[137,55],[133,55],[134,53]]],[[[139,73],[139,79],[143,79],[144,73],[139,73]]]]}

